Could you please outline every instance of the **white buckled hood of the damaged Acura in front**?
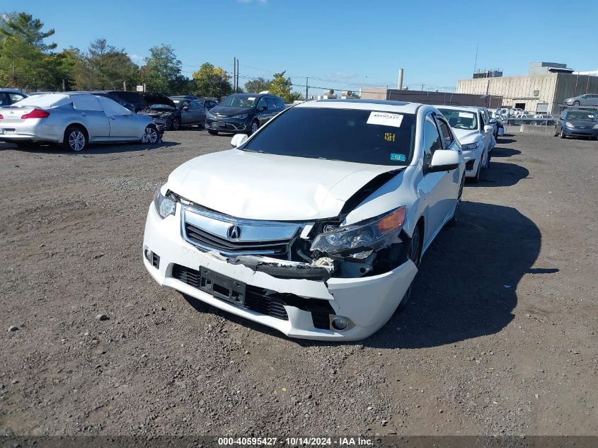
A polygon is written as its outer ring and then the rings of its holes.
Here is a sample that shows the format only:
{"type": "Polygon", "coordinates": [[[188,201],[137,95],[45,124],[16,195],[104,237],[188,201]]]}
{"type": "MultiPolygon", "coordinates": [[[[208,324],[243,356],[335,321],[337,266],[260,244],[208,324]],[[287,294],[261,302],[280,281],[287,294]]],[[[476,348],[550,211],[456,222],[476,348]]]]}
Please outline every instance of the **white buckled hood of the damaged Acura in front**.
{"type": "Polygon", "coordinates": [[[397,169],[231,149],[183,163],[168,189],[233,217],[309,221],[337,216],[369,180],[397,169]]]}

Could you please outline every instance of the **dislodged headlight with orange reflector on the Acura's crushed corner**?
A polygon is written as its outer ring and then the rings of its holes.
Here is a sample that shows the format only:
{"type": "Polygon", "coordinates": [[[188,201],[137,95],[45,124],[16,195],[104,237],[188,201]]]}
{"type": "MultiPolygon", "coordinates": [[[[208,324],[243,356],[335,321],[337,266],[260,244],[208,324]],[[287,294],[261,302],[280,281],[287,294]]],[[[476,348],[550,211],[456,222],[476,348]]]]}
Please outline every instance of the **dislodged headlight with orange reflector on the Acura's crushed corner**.
{"type": "Polygon", "coordinates": [[[403,206],[357,224],[330,229],[316,236],[310,250],[330,255],[348,255],[365,248],[376,250],[391,236],[398,234],[403,228],[406,214],[407,207],[403,206]]]}

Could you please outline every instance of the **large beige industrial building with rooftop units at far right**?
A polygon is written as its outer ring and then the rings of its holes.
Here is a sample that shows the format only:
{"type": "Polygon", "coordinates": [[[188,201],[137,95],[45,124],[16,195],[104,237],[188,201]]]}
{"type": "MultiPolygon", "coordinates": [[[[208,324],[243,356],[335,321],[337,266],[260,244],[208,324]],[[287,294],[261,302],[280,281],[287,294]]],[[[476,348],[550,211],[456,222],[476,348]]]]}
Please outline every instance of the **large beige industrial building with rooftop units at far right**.
{"type": "Polygon", "coordinates": [[[566,64],[534,62],[522,76],[459,79],[457,93],[501,96],[502,106],[534,113],[559,113],[563,100],[598,93],[598,76],[574,74],[566,64]]]}

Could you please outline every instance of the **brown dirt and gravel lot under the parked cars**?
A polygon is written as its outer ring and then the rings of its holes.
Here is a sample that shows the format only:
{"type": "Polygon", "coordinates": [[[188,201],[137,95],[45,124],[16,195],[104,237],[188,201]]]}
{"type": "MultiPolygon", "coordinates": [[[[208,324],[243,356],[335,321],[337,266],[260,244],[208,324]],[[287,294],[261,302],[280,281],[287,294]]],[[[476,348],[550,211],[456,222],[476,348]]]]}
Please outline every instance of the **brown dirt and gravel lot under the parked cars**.
{"type": "Polygon", "coordinates": [[[150,279],[154,189],[230,137],[165,140],[0,144],[0,434],[598,435],[598,142],[503,137],[406,311],[328,344],[150,279]]]}

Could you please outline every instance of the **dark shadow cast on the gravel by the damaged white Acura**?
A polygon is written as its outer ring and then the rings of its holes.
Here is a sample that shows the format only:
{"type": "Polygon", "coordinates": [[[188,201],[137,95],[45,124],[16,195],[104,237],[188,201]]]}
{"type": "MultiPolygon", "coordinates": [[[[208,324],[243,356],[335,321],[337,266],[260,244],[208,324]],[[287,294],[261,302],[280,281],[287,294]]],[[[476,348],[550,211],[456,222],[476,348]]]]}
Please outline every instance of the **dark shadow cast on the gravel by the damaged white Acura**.
{"type": "MultiPolygon", "coordinates": [[[[540,244],[538,227],[517,209],[463,202],[459,224],[441,231],[425,254],[406,309],[395,314],[378,333],[357,344],[425,348],[497,333],[513,318],[521,277],[527,272],[555,272],[531,268],[540,244]]],[[[255,331],[285,338],[268,327],[190,297],[185,299],[197,311],[224,316],[255,331]]],[[[294,342],[303,346],[333,345],[294,342]]]]}

